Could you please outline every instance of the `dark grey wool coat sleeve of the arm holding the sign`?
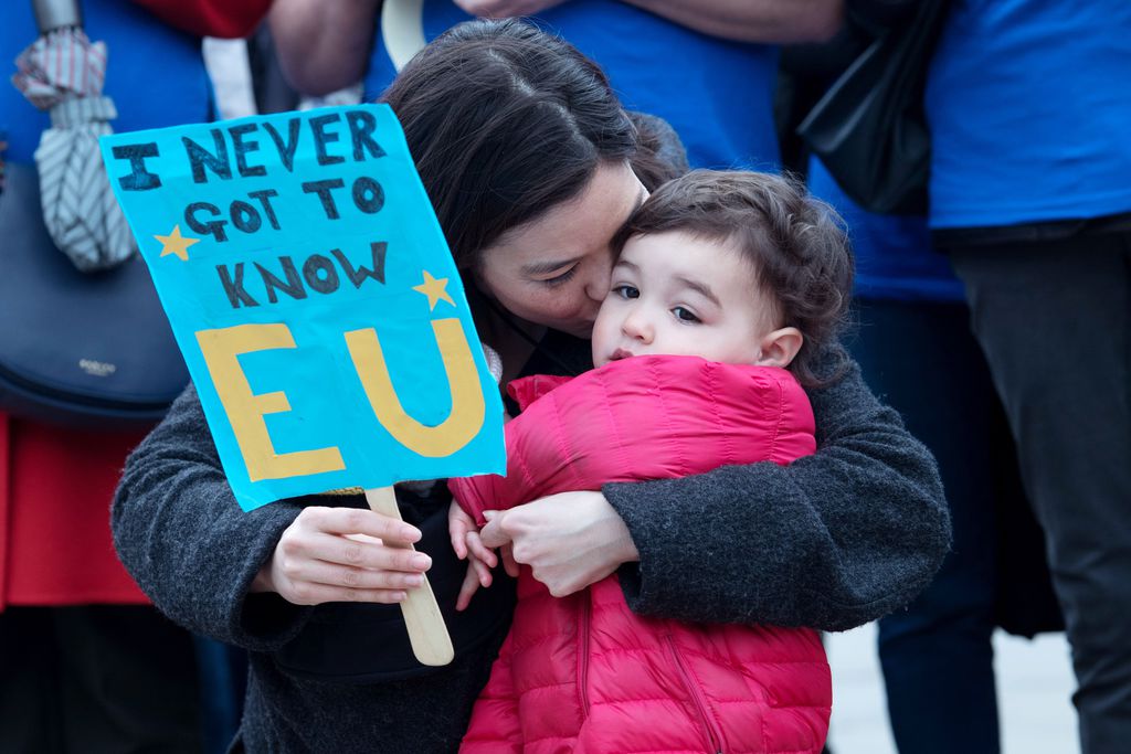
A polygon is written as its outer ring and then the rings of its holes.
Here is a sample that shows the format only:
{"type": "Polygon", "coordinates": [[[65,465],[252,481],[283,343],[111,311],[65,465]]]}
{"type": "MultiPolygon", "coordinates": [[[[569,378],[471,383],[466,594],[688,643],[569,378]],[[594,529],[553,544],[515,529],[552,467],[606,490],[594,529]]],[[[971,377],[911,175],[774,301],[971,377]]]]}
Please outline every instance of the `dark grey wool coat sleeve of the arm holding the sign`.
{"type": "Polygon", "coordinates": [[[189,385],[127,460],[111,526],[122,563],[162,613],[270,651],[299,632],[310,608],[248,588],[300,510],[293,501],[240,509],[189,385]]]}

